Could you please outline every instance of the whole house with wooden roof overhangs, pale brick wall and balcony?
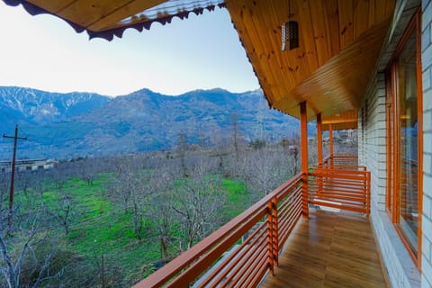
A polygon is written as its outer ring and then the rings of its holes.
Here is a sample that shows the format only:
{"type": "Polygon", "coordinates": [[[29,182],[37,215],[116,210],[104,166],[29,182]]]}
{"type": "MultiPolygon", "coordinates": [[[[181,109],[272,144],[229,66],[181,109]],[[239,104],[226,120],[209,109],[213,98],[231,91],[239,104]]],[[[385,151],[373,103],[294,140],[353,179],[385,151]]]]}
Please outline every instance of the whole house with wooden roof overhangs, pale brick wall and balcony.
{"type": "Polygon", "coordinates": [[[257,223],[202,286],[432,287],[431,0],[4,2],[107,40],[228,9],[269,106],[302,121],[302,173],[136,287],[192,284],[257,223]],[[331,148],[332,131],[347,129],[356,157],[331,148]]]}

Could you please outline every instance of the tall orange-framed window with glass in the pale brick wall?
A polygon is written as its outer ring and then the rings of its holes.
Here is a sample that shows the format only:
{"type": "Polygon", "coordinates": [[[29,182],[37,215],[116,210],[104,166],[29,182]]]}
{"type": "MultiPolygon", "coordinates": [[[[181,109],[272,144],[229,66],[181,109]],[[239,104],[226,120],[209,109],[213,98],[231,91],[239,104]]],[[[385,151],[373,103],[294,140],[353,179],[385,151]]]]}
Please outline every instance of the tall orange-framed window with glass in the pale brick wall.
{"type": "Polygon", "coordinates": [[[386,209],[419,266],[422,92],[416,14],[386,73],[386,209]]]}

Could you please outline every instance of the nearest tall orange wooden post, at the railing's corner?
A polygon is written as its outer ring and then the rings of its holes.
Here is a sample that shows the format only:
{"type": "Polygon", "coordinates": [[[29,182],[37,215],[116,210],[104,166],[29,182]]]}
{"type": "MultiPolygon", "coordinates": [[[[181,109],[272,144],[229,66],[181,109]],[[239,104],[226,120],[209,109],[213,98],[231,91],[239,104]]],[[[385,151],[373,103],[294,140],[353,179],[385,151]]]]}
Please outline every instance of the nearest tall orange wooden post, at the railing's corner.
{"type": "Polygon", "coordinates": [[[301,146],[302,146],[302,216],[309,218],[309,193],[308,193],[308,117],[306,102],[300,103],[300,126],[301,126],[301,146]]]}

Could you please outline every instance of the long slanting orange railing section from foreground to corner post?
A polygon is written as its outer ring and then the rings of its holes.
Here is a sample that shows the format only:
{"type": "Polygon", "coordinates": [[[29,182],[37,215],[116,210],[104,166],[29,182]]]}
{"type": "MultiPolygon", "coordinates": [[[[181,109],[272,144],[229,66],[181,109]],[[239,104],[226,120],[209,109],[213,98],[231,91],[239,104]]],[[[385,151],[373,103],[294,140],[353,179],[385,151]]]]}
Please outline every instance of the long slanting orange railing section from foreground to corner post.
{"type": "Polygon", "coordinates": [[[255,287],[301,215],[300,173],[134,287],[255,287]]]}

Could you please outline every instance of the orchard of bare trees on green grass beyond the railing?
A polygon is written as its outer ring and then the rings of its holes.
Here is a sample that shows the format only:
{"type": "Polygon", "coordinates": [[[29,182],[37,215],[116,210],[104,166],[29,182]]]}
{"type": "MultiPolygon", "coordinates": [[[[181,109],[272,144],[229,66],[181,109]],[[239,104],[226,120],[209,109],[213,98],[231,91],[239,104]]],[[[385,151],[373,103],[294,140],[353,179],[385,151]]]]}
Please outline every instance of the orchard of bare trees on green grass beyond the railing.
{"type": "MultiPolygon", "coordinates": [[[[126,287],[208,236],[300,170],[299,139],[80,157],[0,174],[0,284],[126,287]]],[[[328,155],[328,147],[324,147],[328,155]]],[[[355,142],[335,153],[356,154],[355,142]]],[[[309,162],[316,163],[310,145],[309,162]]]]}

